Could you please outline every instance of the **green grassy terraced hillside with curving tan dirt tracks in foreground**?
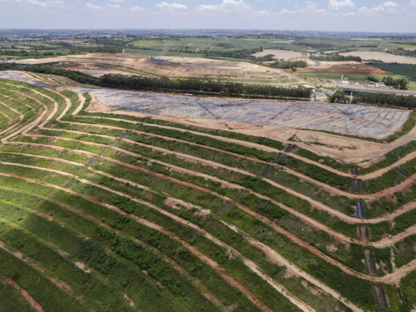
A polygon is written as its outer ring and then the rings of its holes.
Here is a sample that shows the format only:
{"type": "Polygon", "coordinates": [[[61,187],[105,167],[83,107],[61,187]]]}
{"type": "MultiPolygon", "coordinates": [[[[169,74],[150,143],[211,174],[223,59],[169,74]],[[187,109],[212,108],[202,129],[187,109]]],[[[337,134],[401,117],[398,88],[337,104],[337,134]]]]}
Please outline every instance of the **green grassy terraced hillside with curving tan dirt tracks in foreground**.
{"type": "Polygon", "coordinates": [[[38,78],[0,79],[1,309],[415,309],[415,141],[350,171],[38,78]]]}

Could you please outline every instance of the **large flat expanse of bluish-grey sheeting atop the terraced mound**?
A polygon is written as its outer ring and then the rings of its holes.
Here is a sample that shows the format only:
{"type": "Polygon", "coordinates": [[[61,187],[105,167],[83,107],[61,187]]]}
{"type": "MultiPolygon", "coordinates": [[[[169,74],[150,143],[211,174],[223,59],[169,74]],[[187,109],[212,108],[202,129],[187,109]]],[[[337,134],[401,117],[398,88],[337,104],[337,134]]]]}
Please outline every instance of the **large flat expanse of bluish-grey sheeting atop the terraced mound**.
{"type": "Polygon", "coordinates": [[[405,110],[349,104],[200,98],[112,89],[78,88],[73,91],[89,92],[105,105],[146,114],[327,130],[376,139],[397,131],[410,114],[405,110]]]}

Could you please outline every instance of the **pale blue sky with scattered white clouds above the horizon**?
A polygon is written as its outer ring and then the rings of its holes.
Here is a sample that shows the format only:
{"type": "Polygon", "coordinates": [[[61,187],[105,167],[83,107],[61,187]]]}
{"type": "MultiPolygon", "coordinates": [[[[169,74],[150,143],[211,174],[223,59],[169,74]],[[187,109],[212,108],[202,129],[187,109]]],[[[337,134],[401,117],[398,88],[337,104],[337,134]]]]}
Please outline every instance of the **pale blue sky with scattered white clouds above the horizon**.
{"type": "Polygon", "coordinates": [[[416,33],[416,0],[0,0],[0,28],[416,33]]]}

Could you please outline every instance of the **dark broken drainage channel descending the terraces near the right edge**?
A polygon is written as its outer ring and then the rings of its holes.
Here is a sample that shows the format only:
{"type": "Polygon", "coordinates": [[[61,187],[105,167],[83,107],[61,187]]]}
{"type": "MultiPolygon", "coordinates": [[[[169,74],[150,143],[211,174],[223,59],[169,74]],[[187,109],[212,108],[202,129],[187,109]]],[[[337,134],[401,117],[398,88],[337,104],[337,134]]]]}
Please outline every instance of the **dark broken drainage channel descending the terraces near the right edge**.
{"type": "MultiPolygon", "coordinates": [[[[351,168],[352,175],[358,175],[358,167],[351,168]]],[[[361,193],[360,188],[360,179],[354,177],[352,179],[352,191],[354,193],[361,193]]],[[[356,214],[357,218],[363,219],[364,216],[364,209],[363,209],[363,202],[361,200],[356,201],[356,214]]],[[[357,227],[358,236],[360,239],[367,240],[370,239],[370,227],[367,225],[358,225],[357,227]]],[[[364,250],[364,263],[365,269],[367,270],[368,274],[377,275],[377,266],[376,266],[376,259],[374,257],[374,252],[372,250],[364,250]]],[[[374,293],[374,300],[376,301],[376,306],[379,309],[388,309],[388,302],[387,297],[385,296],[384,289],[382,285],[374,284],[373,285],[373,293],[374,293]]]]}

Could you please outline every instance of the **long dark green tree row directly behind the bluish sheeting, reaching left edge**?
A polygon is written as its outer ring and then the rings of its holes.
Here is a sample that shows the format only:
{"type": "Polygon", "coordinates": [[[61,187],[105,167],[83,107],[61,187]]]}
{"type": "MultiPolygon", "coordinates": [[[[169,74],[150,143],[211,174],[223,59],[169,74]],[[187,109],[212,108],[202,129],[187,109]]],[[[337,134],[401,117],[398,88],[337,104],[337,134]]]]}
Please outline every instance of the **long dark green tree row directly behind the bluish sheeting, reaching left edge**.
{"type": "Polygon", "coordinates": [[[242,96],[247,98],[311,98],[311,89],[305,87],[287,88],[271,85],[254,85],[215,81],[207,78],[169,79],[149,78],[144,76],[127,76],[108,73],[100,78],[89,76],[80,71],[69,71],[46,66],[26,66],[19,64],[0,64],[0,70],[32,71],[49,73],[70,78],[78,83],[132,89],[139,91],[185,92],[194,94],[211,94],[220,96],[242,96]]]}

